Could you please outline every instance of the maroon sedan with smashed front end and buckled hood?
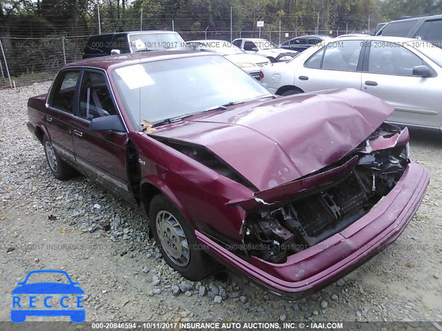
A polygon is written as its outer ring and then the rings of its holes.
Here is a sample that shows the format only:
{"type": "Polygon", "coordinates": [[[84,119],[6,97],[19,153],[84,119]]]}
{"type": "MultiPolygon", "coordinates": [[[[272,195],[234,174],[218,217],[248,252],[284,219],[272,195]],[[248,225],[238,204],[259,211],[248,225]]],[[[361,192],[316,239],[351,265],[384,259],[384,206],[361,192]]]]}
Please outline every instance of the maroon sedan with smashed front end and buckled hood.
{"type": "Polygon", "coordinates": [[[216,54],[64,67],[28,101],[57,179],[76,171],[146,211],[169,265],[215,258],[274,293],[323,288],[395,241],[427,188],[393,108],[358,90],[278,97],[216,54]]]}

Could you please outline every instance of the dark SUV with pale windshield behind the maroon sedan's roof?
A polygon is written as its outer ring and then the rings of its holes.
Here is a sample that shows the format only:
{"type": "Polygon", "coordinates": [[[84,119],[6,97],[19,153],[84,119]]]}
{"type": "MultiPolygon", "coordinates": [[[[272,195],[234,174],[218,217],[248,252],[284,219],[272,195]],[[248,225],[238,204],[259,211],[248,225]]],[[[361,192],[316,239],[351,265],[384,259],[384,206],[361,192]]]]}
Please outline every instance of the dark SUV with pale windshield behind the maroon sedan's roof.
{"type": "Polygon", "coordinates": [[[180,48],[185,42],[173,31],[130,31],[95,34],[88,38],[83,59],[105,57],[111,54],[148,52],[180,48]]]}

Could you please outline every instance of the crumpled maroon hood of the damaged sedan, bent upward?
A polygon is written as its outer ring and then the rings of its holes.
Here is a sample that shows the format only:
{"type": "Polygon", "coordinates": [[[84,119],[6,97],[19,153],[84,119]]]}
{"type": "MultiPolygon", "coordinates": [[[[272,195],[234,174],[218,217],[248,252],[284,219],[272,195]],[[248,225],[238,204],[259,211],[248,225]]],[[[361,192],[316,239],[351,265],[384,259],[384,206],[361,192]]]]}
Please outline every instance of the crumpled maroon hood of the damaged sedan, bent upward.
{"type": "Polygon", "coordinates": [[[359,90],[327,90],[200,113],[153,135],[205,146],[267,190],[338,161],[393,110],[359,90]]]}

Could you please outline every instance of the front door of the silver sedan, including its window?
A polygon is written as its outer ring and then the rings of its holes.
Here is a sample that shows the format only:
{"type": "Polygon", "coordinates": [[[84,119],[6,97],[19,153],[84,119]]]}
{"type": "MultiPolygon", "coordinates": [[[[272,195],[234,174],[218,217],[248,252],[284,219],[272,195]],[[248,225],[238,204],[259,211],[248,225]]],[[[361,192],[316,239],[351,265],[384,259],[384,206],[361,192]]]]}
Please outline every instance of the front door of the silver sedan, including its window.
{"type": "Polygon", "coordinates": [[[442,93],[435,92],[438,77],[413,76],[415,66],[430,65],[397,43],[371,41],[365,52],[363,91],[379,97],[395,110],[389,121],[440,128],[442,93]]]}

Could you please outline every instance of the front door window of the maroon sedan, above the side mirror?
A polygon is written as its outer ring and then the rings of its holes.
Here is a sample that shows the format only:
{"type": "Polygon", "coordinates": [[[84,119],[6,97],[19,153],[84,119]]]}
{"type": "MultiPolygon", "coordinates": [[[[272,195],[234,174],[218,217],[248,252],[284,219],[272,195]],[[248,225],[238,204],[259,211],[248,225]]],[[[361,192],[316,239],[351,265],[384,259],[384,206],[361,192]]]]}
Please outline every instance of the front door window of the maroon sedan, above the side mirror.
{"type": "Polygon", "coordinates": [[[95,117],[117,114],[104,74],[84,72],[79,94],[79,117],[90,121],[95,117]]]}

